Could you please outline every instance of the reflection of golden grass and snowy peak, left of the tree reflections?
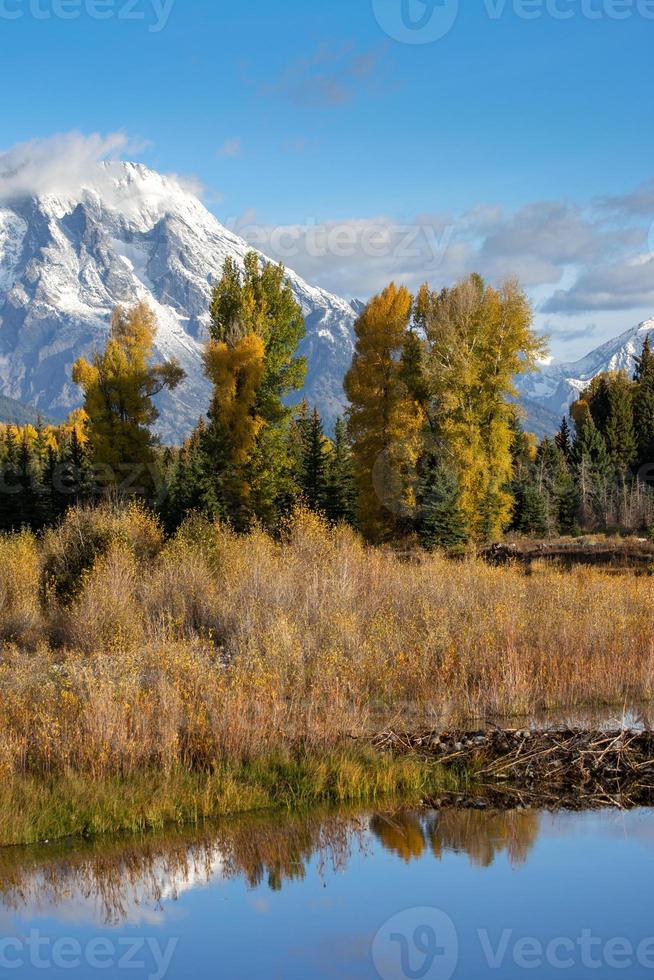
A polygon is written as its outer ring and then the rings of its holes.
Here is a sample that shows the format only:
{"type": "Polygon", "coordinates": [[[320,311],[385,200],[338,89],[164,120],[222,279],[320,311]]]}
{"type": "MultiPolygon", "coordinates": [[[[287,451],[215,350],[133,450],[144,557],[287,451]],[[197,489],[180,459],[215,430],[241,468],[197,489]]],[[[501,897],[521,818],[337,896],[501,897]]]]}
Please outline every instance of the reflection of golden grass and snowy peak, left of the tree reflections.
{"type": "Polygon", "coordinates": [[[211,831],[46,848],[0,849],[0,900],[20,911],[83,907],[94,921],[121,923],[215,877],[243,876],[274,890],[317,868],[347,864],[363,823],[347,814],[245,817],[211,831]]]}

